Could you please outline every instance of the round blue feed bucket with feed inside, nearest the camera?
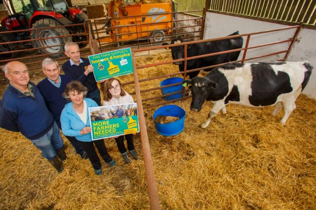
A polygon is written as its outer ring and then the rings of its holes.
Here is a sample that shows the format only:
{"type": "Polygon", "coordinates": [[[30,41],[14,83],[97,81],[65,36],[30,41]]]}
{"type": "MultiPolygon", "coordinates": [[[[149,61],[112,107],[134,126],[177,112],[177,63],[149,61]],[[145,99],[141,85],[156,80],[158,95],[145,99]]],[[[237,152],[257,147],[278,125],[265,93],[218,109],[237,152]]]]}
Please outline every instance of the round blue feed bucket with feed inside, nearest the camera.
{"type": "Polygon", "coordinates": [[[163,136],[173,136],[181,133],[184,129],[185,117],[186,112],[181,107],[172,104],[160,107],[156,110],[153,116],[156,130],[159,134],[163,136]],[[161,124],[156,121],[156,118],[158,116],[178,117],[179,120],[166,124],[161,124]]]}

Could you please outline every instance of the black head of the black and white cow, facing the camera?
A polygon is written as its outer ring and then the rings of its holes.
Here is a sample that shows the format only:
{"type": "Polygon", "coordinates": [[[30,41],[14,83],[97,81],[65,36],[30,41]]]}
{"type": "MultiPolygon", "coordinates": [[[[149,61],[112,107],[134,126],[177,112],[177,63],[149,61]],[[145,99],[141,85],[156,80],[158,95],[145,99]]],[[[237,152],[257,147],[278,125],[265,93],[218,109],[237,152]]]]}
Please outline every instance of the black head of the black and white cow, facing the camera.
{"type": "Polygon", "coordinates": [[[187,85],[191,84],[192,102],[191,110],[199,112],[202,109],[202,105],[214,89],[217,88],[217,83],[209,80],[205,77],[195,77],[192,80],[183,81],[187,85]]]}

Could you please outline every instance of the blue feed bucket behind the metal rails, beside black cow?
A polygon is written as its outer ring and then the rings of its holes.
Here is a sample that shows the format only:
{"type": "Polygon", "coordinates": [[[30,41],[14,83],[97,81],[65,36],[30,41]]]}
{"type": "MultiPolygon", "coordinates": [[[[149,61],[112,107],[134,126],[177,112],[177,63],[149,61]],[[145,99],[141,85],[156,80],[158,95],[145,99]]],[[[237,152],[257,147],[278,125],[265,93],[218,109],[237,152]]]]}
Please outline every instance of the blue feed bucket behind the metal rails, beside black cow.
{"type": "MultiPolygon", "coordinates": [[[[163,80],[160,83],[160,87],[163,87],[163,86],[166,86],[166,85],[172,85],[172,84],[175,84],[175,83],[182,83],[182,81],[183,81],[183,78],[180,78],[180,77],[169,78],[169,79],[163,80]]],[[[172,87],[162,88],[161,92],[164,95],[164,94],[177,92],[177,91],[181,91],[181,90],[182,90],[182,85],[180,84],[180,85],[176,85],[176,86],[172,86],[172,87]]],[[[173,99],[181,98],[181,94],[182,93],[176,93],[176,94],[173,94],[173,95],[164,96],[163,99],[166,100],[166,101],[171,101],[173,99]]]]}

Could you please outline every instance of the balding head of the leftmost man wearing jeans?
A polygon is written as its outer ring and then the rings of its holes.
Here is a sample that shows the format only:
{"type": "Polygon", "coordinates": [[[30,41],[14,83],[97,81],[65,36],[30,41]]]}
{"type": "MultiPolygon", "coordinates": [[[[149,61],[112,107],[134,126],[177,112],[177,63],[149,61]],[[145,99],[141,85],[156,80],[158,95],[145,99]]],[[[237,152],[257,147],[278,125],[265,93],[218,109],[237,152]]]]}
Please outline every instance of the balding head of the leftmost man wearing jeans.
{"type": "Polygon", "coordinates": [[[19,61],[12,61],[7,64],[7,74],[5,77],[17,88],[27,87],[30,76],[26,65],[19,61]]]}

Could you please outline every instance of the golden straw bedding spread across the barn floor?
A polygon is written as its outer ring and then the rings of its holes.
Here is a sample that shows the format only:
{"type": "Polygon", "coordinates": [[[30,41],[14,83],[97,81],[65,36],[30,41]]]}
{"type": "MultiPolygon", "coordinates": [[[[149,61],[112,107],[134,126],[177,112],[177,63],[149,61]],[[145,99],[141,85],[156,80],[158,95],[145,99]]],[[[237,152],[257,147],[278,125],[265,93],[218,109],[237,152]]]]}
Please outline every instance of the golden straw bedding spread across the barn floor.
{"type": "MultiPolygon", "coordinates": [[[[137,64],[171,60],[169,53],[137,58],[137,64]]],[[[168,64],[139,71],[153,77],[176,72],[168,64]],[[159,70],[158,70],[159,69],[159,70]]],[[[42,76],[43,78],[43,76],[42,76]]],[[[130,81],[131,76],[121,77],[130,81]]],[[[161,81],[161,79],[160,79],[161,81]]],[[[157,87],[159,80],[141,83],[157,87]]],[[[133,91],[133,86],[126,87],[133,91]]],[[[152,91],[143,98],[160,94],[152,91]]],[[[161,102],[161,99],[155,102],[161,102]]],[[[300,95],[285,126],[273,107],[228,105],[206,129],[199,128],[212,104],[190,111],[191,99],[174,104],[186,111],[185,129],[163,137],[145,110],[162,209],[314,209],[316,206],[316,101],[300,95]]],[[[144,103],[151,104],[152,101],[144,103]]],[[[0,209],[149,209],[140,136],[140,159],[125,165],[113,139],[106,140],[117,164],[104,162],[101,176],[65,140],[68,159],[58,174],[21,134],[0,129],[0,209]]]]}

